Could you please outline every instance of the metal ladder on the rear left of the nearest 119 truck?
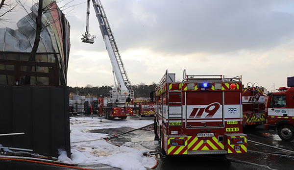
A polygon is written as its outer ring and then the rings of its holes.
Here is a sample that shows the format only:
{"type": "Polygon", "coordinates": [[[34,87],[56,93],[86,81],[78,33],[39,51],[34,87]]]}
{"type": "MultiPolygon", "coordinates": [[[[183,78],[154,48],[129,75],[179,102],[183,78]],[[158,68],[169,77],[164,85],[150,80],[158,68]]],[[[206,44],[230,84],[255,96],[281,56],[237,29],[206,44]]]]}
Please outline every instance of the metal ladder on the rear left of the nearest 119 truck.
{"type": "Polygon", "coordinates": [[[167,98],[168,98],[168,135],[170,135],[170,126],[181,126],[181,135],[183,135],[183,100],[181,100],[181,102],[170,102],[170,95],[180,95],[180,97],[182,98],[182,88],[180,91],[170,91],[169,90],[169,82],[172,83],[174,82],[172,79],[172,75],[174,75],[174,73],[169,73],[169,71],[166,71],[165,76],[162,78],[162,81],[167,82],[167,98]],[[171,93],[172,92],[172,93],[171,93]],[[172,105],[170,105],[170,103],[172,103],[172,105]],[[170,113],[170,108],[171,107],[181,107],[181,112],[180,113],[170,113]],[[181,123],[180,125],[173,125],[170,124],[171,120],[174,119],[180,119],[181,123]]]}

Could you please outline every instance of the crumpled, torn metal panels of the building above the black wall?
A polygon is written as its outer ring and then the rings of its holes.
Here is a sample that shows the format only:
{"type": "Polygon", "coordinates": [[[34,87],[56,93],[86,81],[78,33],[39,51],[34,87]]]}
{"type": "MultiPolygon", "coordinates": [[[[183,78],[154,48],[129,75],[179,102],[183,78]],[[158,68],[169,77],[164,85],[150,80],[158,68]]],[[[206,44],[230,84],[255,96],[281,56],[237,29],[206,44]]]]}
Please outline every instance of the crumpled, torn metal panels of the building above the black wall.
{"type": "MultiPolygon", "coordinates": [[[[46,27],[40,35],[35,61],[56,63],[59,68],[59,85],[66,86],[70,52],[70,24],[55,1],[44,0],[43,3],[43,6],[51,3],[51,7],[42,15],[42,24],[46,27]]],[[[17,22],[18,29],[0,28],[0,59],[28,61],[35,41],[37,3],[31,7],[31,11],[17,22]]],[[[13,65],[0,63],[0,70],[13,69],[13,65]]],[[[21,66],[21,71],[26,71],[26,66],[21,66]]],[[[48,73],[49,68],[32,67],[32,72],[48,73]]],[[[24,83],[24,78],[25,76],[21,76],[20,85],[24,83]]],[[[31,85],[49,85],[49,78],[31,76],[30,83],[31,85]]],[[[0,74],[0,85],[14,84],[13,75],[0,74]]]]}

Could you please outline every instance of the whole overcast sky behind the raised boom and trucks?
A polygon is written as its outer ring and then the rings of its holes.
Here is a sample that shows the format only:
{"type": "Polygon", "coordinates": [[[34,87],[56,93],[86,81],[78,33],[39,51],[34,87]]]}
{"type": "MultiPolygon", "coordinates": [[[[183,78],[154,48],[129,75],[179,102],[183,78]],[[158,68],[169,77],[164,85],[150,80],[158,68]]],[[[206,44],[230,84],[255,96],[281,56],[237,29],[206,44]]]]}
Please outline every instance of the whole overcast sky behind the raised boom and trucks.
{"type": "MultiPolygon", "coordinates": [[[[65,0],[70,1],[70,0],[65,0]]],[[[65,2],[64,1],[64,2],[65,2]]],[[[70,4],[80,3],[75,0],[70,4]]],[[[84,0],[86,1],[86,0],[84,0]]],[[[101,0],[133,85],[158,83],[166,70],[242,75],[268,91],[294,76],[293,0],[101,0]]],[[[71,24],[68,86],[113,85],[112,66],[91,2],[64,13],[71,24]]]]}

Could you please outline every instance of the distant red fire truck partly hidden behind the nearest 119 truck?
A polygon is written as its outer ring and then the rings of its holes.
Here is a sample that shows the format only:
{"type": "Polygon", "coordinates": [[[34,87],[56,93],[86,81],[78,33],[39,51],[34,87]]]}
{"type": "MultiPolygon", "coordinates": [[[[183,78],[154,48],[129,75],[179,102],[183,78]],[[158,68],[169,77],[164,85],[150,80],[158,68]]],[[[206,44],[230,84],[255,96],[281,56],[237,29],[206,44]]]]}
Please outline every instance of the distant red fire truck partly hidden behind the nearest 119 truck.
{"type": "Polygon", "coordinates": [[[133,107],[134,114],[139,114],[140,116],[154,116],[154,102],[151,101],[150,98],[132,98],[130,105],[133,107]]]}

